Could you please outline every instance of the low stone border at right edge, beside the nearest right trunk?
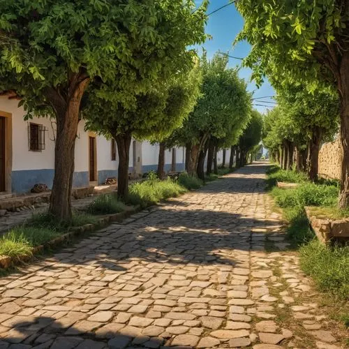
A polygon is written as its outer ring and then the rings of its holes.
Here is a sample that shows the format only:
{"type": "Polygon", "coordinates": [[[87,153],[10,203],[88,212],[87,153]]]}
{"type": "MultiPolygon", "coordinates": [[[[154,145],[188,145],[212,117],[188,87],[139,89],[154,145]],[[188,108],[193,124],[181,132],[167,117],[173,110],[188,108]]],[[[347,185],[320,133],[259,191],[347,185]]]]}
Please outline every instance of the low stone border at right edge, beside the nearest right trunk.
{"type": "Polygon", "coordinates": [[[329,219],[315,216],[313,209],[315,207],[304,207],[306,217],[313,228],[316,236],[323,244],[330,242],[345,242],[349,241],[349,218],[329,219]]]}

